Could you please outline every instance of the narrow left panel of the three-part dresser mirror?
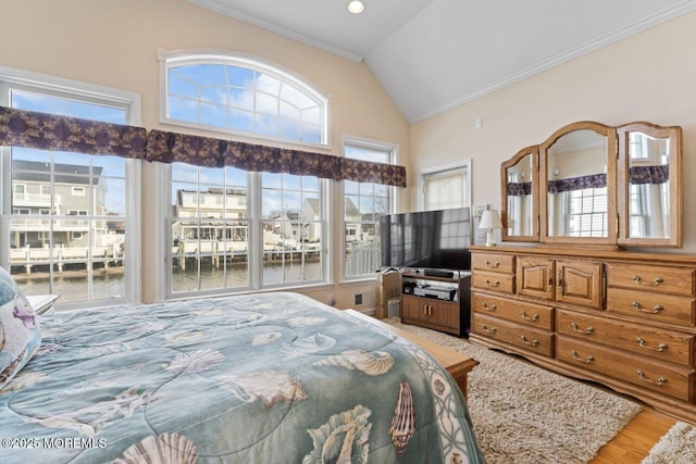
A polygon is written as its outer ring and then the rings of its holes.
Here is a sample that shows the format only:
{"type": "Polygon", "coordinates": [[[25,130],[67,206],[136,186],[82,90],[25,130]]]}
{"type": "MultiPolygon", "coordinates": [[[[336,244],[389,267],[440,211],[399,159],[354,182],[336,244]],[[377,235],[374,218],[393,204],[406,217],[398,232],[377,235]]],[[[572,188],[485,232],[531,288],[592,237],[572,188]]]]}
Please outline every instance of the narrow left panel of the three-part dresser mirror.
{"type": "Polygon", "coordinates": [[[537,146],[520,150],[502,163],[502,239],[538,241],[538,152],[537,146]]]}

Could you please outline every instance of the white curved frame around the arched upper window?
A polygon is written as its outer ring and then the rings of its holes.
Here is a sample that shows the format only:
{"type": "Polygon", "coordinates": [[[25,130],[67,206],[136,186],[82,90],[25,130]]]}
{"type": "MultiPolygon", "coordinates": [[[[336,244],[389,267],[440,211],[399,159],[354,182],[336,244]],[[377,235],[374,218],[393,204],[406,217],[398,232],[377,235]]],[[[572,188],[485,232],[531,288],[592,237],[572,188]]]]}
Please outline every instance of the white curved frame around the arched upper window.
{"type": "MultiPolygon", "coordinates": [[[[250,138],[254,140],[270,140],[279,143],[289,143],[300,147],[309,148],[331,148],[331,99],[322,91],[318,89],[313,84],[296,73],[278,66],[270,61],[257,58],[251,54],[234,52],[228,50],[215,50],[215,49],[195,49],[195,50],[174,50],[165,51],[163,49],[158,50],[158,61],[160,63],[160,123],[195,128],[221,134],[233,135],[237,137],[250,138]],[[284,81],[291,83],[296,88],[300,89],[304,95],[312,96],[313,99],[321,101],[320,111],[322,122],[320,124],[321,137],[320,142],[307,142],[293,139],[286,139],[283,137],[269,136],[264,134],[258,134],[252,131],[238,130],[233,128],[225,128],[221,126],[207,125],[202,123],[194,123],[186,121],[178,121],[169,117],[169,67],[173,64],[226,64],[239,67],[246,67],[248,70],[262,72],[271,76],[277,77],[284,81]]],[[[257,113],[256,111],[251,114],[257,113]]]]}

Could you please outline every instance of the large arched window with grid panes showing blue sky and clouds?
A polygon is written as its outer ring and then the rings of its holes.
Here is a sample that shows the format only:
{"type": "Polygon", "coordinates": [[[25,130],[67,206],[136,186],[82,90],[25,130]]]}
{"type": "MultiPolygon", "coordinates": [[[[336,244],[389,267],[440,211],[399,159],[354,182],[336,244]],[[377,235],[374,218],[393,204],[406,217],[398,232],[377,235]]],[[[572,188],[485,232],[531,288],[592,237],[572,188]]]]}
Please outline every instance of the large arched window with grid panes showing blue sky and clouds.
{"type": "Polygon", "coordinates": [[[326,146],[328,100],[293,73],[241,54],[160,51],[161,121],[326,146]]]}

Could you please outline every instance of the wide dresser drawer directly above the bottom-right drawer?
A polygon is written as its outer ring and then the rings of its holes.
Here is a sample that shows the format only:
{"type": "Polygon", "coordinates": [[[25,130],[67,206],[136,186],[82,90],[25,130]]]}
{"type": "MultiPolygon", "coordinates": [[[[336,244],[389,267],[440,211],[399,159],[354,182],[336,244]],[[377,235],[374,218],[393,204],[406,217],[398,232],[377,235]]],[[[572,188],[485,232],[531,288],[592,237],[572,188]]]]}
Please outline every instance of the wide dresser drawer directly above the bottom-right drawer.
{"type": "Polygon", "coordinates": [[[556,310],[556,333],[620,348],[656,360],[693,365],[696,336],[641,324],[556,310]]]}

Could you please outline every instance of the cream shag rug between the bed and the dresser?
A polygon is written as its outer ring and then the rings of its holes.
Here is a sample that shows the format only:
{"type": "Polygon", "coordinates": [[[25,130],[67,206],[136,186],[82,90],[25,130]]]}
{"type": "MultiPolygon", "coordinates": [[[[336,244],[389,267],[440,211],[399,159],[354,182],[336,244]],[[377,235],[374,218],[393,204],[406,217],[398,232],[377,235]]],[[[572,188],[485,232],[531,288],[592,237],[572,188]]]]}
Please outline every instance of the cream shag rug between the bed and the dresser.
{"type": "Polygon", "coordinates": [[[586,463],[639,411],[591,385],[435,330],[384,322],[481,362],[469,375],[469,410],[489,464],[586,463]]]}

